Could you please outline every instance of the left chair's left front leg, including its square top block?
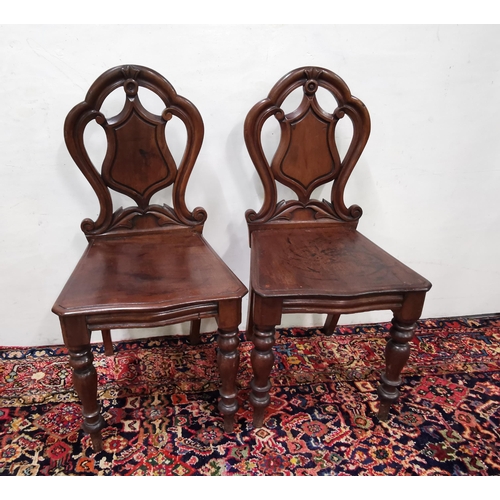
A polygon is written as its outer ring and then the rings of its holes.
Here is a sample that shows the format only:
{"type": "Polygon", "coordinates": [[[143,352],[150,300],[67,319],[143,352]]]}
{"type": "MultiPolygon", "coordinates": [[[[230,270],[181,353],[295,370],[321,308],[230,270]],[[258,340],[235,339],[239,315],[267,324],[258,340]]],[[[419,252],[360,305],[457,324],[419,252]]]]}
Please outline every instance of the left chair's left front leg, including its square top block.
{"type": "Polygon", "coordinates": [[[73,385],[82,403],[83,430],[90,434],[94,452],[102,451],[101,430],[106,421],[97,401],[97,372],[84,317],[61,318],[64,342],[73,370],[73,385]]]}

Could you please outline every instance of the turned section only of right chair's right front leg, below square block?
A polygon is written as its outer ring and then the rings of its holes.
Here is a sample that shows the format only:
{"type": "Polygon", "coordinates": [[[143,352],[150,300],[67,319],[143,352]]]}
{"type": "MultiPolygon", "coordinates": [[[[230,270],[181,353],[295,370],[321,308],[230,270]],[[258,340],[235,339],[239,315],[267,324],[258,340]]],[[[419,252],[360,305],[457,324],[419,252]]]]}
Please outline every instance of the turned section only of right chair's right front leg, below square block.
{"type": "Polygon", "coordinates": [[[387,420],[391,405],[399,399],[401,371],[410,357],[409,342],[413,338],[416,325],[416,322],[403,322],[396,318],[392,320],[391,338],[385,348],[386,369],[382,373],[382,383],[378,387],[380,420],[387,420]]]}

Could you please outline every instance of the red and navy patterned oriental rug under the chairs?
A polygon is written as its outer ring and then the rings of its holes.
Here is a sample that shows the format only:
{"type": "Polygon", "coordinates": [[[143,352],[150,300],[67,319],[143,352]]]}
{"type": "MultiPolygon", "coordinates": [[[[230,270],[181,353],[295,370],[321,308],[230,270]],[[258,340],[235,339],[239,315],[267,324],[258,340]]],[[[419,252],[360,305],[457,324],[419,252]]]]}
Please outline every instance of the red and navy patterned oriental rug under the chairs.
{"type": "Polygon", "coordinates": [[[241,337],[234,434],[217,411],[215,335],[95,345],[108,427],[93,454],[62,347],[0,350],[0,475],[500,474],[500,315],[420,322],[402,396],[376,417],[388,324],[279,330],[253,429],[241,337]]]}

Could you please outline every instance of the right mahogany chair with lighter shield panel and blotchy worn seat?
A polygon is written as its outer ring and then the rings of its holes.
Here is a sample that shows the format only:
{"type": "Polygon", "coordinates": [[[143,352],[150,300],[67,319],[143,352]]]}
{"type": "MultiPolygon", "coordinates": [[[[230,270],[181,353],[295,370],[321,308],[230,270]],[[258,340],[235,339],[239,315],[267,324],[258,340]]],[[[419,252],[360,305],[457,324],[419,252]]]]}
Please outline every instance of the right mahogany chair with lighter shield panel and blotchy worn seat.
{"type": "Polygon", "coordinates": [[[378,416],[387,419],[390,405],[399,397],[408,342],[431,284],[359,233],[361,208],[344,204],[346,182],[370,134],[368,111],[335,73],[318,67],[298,68],[250,110],[244,133],[264,186],[260,211],[246,212],[251,247],[247,333],[254,342],[250,394],[254,426],[262,426],[270,403],[275,326],[283,313],[298,312],[327,313],[323,330],[332,334],[341,314],[393,311],[386,370],[378,388],[378,416]],[[335,98],[332,111],[319,105],[320,87],[335,98]],[[284,100],[300,88],[300,105],[285,114],[284,100]],[[341,160],[335,129],[345,116],[352,122],[353,135],[341,160]],[[270,117],[278,120],[281,131],[271,164],[261,141],[263,125],[270,117]],[[311,199],[315,188],[330,181],[330,201],[311,199]],[[298,199],[278,202],[276,182],[292,189],[298,199]]]}

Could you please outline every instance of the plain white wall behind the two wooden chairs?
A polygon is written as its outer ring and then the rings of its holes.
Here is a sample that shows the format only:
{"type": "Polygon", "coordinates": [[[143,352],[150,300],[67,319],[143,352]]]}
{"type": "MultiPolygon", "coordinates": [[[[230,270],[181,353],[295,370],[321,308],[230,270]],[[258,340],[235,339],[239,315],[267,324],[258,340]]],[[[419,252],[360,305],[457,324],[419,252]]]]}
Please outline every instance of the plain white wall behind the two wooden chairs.
{"type": "MultiPolygon", "coordinates": [[[[92,82],[122,63],[159,71],[200,110],[205,141],[188,204],[207,209],[206,238],[245,284],[244,212],[260,207],[262,191],[243,120],[289,70],[318,65],[371,114],[346,192],[364,210],[360,231],[432,281],[424,317],[497,312],[499,53],[500,27],[486,25],[0,27],[0,345],[61,343],[50,309],[85,248],[80,222],[98,210],[62,126],[92,82]]],[[[245,318],[246,301],[242,328],[245,318]]]]}

